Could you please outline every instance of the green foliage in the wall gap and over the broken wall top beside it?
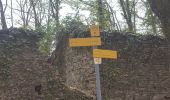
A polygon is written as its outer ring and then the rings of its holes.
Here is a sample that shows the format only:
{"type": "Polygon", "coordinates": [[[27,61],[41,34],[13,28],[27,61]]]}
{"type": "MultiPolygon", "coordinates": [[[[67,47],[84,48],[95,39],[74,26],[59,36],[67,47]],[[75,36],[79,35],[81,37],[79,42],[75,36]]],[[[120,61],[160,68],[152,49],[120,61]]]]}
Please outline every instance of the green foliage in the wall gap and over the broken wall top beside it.
{"type": "Polygon", "coordinates": [[[55,42],[61,39],[62,35],[70,34],[74,37],[79,37],[84,35],[79,33],[83,33],[88,29],[88,26],[85,25],[78,16],[77,19],[66,16],[61,22],[62,25],[55,27],[54,21],[51,20],[49,25],[42,27],[41,33],[43,33],[43,38],[39,43],[39,49],[42,52],[49,54],[55,47],[55,42]]]}

